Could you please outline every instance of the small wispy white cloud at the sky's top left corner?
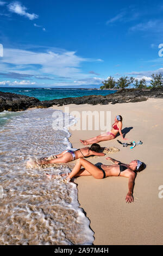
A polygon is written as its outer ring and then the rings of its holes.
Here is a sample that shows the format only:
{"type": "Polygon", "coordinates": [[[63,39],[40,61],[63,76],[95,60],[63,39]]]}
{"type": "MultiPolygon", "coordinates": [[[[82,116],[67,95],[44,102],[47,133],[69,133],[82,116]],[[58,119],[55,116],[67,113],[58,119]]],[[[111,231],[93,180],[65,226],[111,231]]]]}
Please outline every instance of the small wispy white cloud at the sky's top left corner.
{"type": "Polygon", "coordinates": [[[27,17],[29,20],[34,20],[39,17],[37,14],[29,14],[27,13],[27,8],[24,7],[20,2],[14,1],[8,4],[8,9],[11,11],[11,13],[16,13],[18,15],[27,17]]]}

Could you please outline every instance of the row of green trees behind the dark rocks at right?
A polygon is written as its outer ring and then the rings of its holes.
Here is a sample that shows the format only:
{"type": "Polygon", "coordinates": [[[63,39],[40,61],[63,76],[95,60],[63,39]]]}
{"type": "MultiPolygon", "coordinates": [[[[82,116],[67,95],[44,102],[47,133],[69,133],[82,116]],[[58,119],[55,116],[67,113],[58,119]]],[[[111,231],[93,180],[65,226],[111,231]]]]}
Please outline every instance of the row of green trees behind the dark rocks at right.
{"type": "Polygon", "coordinates": [[[107,80],[104,80],[103,86],[101,89],[123,89],[129,87],[133,84],[134,88],[148,88],[151,89],[153,87],[160,88],[163,87],[163,78],[161,73],[159,74],[152,74],[151,84],[147,86],[147,82],[145,78],[138,80],[134,77],[122,76],[117,81],[114,80],[114,77],[110,76],[107,80]]]}

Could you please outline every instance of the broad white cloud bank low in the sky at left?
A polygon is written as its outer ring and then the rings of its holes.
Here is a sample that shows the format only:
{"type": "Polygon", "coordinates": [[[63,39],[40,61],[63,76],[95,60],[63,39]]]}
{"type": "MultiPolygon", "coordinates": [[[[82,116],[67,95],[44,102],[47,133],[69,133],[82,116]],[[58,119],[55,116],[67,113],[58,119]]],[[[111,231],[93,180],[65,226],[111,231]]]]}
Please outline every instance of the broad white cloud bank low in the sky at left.
{"type": "MultiPolygon", "coordinates": [[[[28,74],[51,74],[57,76],[73,77],[73,79],[87,77],[79,69],[82,62],[95,61],[77,56],[70,51],[34,52],[14,48],[4,48],[1,66],[5,70],[14,72],[28,71],[28,74]],[[12,66],[11,66],[11,65],[12,66]],[[29,73],[30,69],[30,73],[29,73]]],[[[0,67],[1,68],[1,67],[0,67]]],[[[1,69],[4,70],[4,69],[1,69]]],[[[27,74],[27,73],[26,73],[27,74]]]]}

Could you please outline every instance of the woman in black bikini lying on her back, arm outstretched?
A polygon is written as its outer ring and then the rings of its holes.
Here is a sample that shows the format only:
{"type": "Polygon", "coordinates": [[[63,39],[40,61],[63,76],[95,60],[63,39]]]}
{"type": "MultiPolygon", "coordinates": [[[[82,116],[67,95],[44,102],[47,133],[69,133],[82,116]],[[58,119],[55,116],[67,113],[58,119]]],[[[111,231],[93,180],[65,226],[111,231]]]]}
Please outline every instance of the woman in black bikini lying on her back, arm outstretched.
{"type": "MultiPolygon", "coordinates": [[[[134,201],[133,198],[133,188],[134,181],[136,178],[137,172],[141,172],[141,170],[145,169],[145,164],[139,160],[133,160],[129,164],[121,163],[111,157],[106,157],[106,160],[112,161],[114,164],[105,165],[102,163],[90,163],[85,159],[79,159],[74,166],[71,173],[66,176],[67,182],[69,182],[73,177],[92,175],[96,179],[104,179],[108,176],[122,176],[129,178],[128,180],[128,193],[126,195],[126,203],[131,203],[134,201]],[[82,168],[82,166],[84,168],[82,168]]],[[[47,174],[48,175],[48,174],[47,174]]],[[[48,175],[49,176],[49,175],[48,175]]],[[[54,178],[56,175],[52,175],[54,178]]],[[[63,174],[62,174],[63,176],[63,174]]]]}

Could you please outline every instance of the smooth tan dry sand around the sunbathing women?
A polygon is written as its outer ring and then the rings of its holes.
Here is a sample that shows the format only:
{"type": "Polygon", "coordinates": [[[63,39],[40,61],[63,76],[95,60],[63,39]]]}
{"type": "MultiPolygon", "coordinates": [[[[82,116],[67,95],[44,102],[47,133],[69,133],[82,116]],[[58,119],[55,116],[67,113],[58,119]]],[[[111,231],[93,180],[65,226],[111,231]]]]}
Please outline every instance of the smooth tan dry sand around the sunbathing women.
{"type": "MultiPolygon", "coordinates": [[[[134,202],[126,203],[128,179],[108,177],[95,179],[82,176],[75,180],[78,184],[80,206],[90,219],[90,227],[95,232],[94,245],[162,245],[163,198],[159,198],[159,186],[163,185],[163,100],[148,99],[137,103],[116,105],[66,105],[71,111],[111,111],[111,124],[115,115],[123,117],[123,127],[133,127],[126,137],[127,142],[142,141],[134,149],[123,148],[116,139],[100,142],[102,147],[117,147],[120,152],[110,157],[129,163],[139,159],[147,164],[145,170],[137,174],[134,187],[134,202]]],[[[65,106],[56,107],[62,109],[65,106]]],[[[74,127],[74,126],[72,126],[74,127]]],[[[101,131],[72,131],[70,142],[73,148],[82,148],[79,139],[99,135],[101,131]]],[[[122,141],[121,136],[117,139],[122,141]]],[[[105,157],[90,157],[92,163],[111,164],[105,157]]],[[[75,163],[72,162],[72,163],[75,163]]],[[[163,192],[162,192],[163,195],[163,192]]]]}

